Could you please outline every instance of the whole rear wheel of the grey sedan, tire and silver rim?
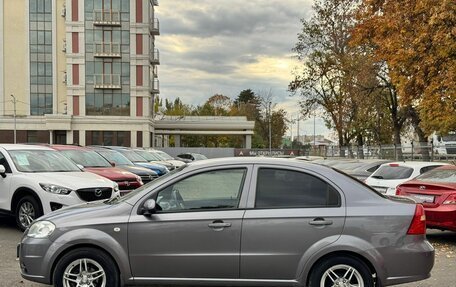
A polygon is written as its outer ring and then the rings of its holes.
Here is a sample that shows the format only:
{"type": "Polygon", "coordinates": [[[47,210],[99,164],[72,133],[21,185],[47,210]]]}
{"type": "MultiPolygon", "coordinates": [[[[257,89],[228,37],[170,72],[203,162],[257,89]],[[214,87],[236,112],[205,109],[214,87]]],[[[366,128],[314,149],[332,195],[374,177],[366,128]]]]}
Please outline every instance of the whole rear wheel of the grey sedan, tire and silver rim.
{"type": "Polygon", "coordinates": [[[374,279],[364,262],[335,256],[318,263],[310,275],[310,287],[373,287],[374,279]]]}

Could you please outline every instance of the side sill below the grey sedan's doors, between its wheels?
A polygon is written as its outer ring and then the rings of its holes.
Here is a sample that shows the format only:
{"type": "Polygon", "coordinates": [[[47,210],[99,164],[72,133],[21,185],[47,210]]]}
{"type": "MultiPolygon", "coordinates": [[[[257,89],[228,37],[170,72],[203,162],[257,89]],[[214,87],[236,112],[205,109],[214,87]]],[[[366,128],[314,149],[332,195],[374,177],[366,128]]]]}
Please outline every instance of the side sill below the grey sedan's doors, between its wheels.
{"type": "Polygon", "coordinates": [[[297,286],[296,280],[273,280],[273,279],[234,279],[234,278],[172,278],[172,277],[132,277],[135,283],[199,283],[199,284],[234,284],[257,286],[297,286]]]}

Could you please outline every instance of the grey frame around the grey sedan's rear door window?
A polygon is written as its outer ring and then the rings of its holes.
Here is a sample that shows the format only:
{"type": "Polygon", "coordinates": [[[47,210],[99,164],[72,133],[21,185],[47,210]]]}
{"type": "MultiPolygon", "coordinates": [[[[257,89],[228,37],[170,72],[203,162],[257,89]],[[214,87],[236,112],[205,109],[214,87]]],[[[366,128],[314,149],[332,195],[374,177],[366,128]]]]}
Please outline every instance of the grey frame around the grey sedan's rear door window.
{"type": "Polygon", "coordinates": [[[316,173],[309,169],[299,168],[299,167],[295,167],[295,166],[287,166],[287,165],[270,166],[270,165],[263,165],[263,164],[255,164],[253,167],[252,183],[250,184],[249,196],[248,196],[248,200],[247,200],[247,209],[249,209],[249,210],[251,210],[251,209],[256,209],[256,210],[260,210],[260,209],[293,209],[293,208],[318,209],[318,208],[341,208],[341,207],[345,207],[344,192],[331,179],[329,179],[319,173],[316,173]],[[337,194],[339,196],[339,205],[338,206],[326,206],[326,207],[268,207],[268,208],[255,207],[257,183],[258,183],[258,172],[261,168],[284,169],[284,170],[306,173],[310,176],[316,177],[316,178],[322,180],[323,182],[327,183],[334,191],[337,192],[337,194]]]}

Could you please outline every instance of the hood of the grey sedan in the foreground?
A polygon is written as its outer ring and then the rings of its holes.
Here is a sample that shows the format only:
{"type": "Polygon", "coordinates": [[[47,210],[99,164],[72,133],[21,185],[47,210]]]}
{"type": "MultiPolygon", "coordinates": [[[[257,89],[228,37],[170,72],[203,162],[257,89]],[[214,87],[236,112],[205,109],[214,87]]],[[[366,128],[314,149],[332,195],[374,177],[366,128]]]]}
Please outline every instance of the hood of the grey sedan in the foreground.
{"type": "Polygon", "coordinates": [[[133,206],[126,202],[118,204],[107,204],[105,202],[106,200],[100,200],[72,205],[48,213],[40,217],[39,220],[51,221],[57,228],[109,224],[115,221],[127,223],[133,206]]]}

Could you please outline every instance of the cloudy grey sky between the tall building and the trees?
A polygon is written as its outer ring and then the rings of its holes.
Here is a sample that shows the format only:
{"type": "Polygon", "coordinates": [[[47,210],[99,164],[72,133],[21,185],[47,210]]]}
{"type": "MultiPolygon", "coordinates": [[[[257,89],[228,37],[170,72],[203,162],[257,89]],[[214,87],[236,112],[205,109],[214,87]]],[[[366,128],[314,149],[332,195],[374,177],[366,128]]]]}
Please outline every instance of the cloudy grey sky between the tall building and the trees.
{"type": "MultiPolygon", "coordinates": [[[[312,0],[161,0],[160,97],[203,104],[220,93],[272,91],[277,108],[297,116],[298,98],[287,86],[296,65],[291,49],[312,0]]],[[[321,120],[317,133],[327,133],[321,120]]],[[[313,132],[313,120],[300,134],[313,132]]],[[[288,135],[290,132],[288,132],[288,135]]],[[[296,135],[296,125],[293,128],[296,135]]]]}

